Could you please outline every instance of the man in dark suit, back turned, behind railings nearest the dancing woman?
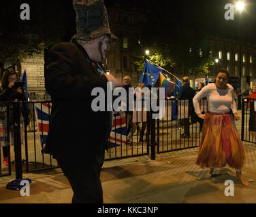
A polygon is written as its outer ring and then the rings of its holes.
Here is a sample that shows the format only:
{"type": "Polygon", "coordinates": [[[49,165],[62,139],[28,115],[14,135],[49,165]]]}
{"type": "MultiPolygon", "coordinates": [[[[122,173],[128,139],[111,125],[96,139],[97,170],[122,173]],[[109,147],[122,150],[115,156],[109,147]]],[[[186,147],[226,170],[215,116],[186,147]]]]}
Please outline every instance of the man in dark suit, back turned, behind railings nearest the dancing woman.
{"type": "MultiPolygon", "coordinates": [[[[195,96],[195,90],[189,85],[189,78],[182,78],[182,86],[180,87],[180,91],[178,93],[178,99],[180,100],[189,100],[189,116],[193,112],[193,97],[195,96]]],[[[184,101],[183,101],[184,102],[184,101]]],[[[189,138],[189,117],[183,119],[184,122],[184,134],[182,137],[189,138]]]]}

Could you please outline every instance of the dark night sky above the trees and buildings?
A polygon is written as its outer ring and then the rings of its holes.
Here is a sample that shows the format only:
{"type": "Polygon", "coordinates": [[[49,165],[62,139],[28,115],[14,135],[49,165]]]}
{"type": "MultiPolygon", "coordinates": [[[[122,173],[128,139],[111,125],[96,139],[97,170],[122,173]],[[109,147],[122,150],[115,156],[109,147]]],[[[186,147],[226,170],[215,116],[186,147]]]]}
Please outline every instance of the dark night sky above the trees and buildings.
{"type": "MultiPolygon", "coordinates": [[[[141,12],[145,12],[146,9],[146,0],[105,0],[106,7],[111,7],[115,1],[119,1],[121,5],[128,8],[136,7],[141,12]]],[[[63,41],[69,41],[71,36],[76,33],[76,14],[71,0],[3,1],[1,3],[1,22],[3,20],[4,22],[19,20],[20,4],[25,2],[31,6],[31,20],[25,22],[36,24],[40,19],[45,20],[46,24],[50,24],[51,20],[53,21],[58,17],[59,20],[62,20],[65,28],[63,41]],[[41,3],[40,6],[38,6],[39,3],[41,3]],[[41,17],[38,18],[38,16],[41,17]]],[[[245,2],[246,11],[242,14],[241,36],[246,41],[256,43],[256,1],[246,0],[245,2]]],[[[235,5],[234,0],[152,0],[152,3],[153,7],[148,24],[153,22],[161,28],[168,28],[170,34],[172,33],[172,26],[178,25],[180,28],[193,28],[199,33],[220,33],[228,37],[238,38],[238,12],[235,12],[235,20],[225,20],[224,18],[224,5],[226,3],[235,5]]],[[[42,28],[44,27],[42,26],[42,28]]]]}

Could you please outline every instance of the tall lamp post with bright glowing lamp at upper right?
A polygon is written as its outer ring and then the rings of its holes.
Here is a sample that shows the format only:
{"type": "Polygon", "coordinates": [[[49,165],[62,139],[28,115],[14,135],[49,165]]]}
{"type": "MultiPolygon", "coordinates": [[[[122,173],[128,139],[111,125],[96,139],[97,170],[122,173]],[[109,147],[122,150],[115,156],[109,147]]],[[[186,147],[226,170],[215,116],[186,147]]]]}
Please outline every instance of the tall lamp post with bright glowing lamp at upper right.
{"type": "Polygon", "coordinates": [[[238,20],[238,31],[239,31],[239,80],[240,80],[240,93],[238,95],[238,109],[241,109],[241,94],[242,94],[242,44],[241,44],[241,16],[242,12],[244,11],[244,2],[239,1],[236,3],[236,9],[238,9],[239,12],[239,20],[238,20]]]}

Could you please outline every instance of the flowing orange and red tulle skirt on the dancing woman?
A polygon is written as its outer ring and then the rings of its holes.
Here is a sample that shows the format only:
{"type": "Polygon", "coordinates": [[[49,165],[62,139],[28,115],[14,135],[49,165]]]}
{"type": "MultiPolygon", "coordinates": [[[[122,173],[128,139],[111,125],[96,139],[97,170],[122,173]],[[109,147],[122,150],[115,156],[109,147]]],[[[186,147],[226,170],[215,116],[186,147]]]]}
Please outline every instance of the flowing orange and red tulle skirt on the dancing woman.
{"type": "Polygon", "coordinates": [[[202,168],[242,167],[244,148],[231,115],[206,113],[197,155],[196,163],[202,168]]]}

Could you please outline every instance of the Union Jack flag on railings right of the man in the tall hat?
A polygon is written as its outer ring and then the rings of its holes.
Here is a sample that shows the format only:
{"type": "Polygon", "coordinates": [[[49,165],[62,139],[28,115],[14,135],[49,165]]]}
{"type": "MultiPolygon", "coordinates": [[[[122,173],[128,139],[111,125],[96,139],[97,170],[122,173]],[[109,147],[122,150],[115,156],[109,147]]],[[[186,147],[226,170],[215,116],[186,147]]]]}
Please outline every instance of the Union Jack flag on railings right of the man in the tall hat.
{"type": "Polygon", "coordinates": [[[127,144],[127,130],[125,117],[121,117],[120,113],[114,113],[112,119],[112,130],[110,132],[110,148],[127,144]]]}

